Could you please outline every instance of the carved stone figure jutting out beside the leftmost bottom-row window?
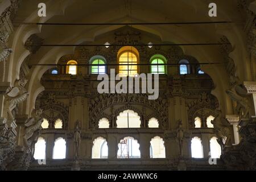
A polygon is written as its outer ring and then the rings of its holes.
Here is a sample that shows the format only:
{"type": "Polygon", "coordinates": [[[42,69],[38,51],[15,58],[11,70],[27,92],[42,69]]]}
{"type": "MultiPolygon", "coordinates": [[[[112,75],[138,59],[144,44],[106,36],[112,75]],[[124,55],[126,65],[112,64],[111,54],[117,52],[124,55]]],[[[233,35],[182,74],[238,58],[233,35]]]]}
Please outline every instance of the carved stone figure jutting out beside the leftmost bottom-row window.
{"type": "Polygon", "coordinates": [[[43,118],[40,116],[42,115],[43,110],[39,109],[36,111],[35,117],[33,118],[28,118],[25,122],[25,131],[23,135],[23,141],[24,141],[24,146],[29,147],[30,144],[33,142],[38,137],[39,132],[36,132],[40,130],[40,127],[43,122],[43,118]],[[34,135],[36,132],[37,135],[34,135]]]}

